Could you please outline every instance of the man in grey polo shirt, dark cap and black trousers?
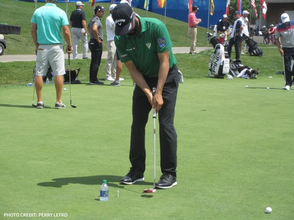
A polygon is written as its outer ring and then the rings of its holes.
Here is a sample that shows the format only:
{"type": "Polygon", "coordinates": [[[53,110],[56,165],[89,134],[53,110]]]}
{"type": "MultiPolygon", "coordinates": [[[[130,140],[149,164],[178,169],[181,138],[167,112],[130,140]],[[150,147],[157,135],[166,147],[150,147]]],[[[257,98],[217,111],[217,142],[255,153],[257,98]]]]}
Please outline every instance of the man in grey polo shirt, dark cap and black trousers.
{"type": "Polygon", "coordinates": [[[89,48],[91,50],[91,64],[90,64],[90,84],[91,85],[103,85],[104,83],[97,78],[98,69],[101,63],[102,56],[102,41],[103,41],[103,29],[101,18],[104,15],[104,7],[97,5],[94,9],[94,15],[89,22],[87,28],[90,32],[89,48]]]}

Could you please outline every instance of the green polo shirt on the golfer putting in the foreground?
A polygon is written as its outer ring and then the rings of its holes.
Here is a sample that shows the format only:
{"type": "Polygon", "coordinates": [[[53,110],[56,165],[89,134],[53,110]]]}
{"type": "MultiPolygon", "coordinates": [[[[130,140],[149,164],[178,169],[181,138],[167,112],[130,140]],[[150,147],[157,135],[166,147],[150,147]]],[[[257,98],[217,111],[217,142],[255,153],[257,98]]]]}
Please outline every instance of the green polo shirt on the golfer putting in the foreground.
{"type": "Polygon", "coordinates": [[[170,51],[170,68],[176,64],[172,41],[165,24],[154,18],[141,18],[141,33],[116,36],[114,41],[122,63],[133,61],[139,71],[150,78],[158,77],[158,53],[170,51]]]}

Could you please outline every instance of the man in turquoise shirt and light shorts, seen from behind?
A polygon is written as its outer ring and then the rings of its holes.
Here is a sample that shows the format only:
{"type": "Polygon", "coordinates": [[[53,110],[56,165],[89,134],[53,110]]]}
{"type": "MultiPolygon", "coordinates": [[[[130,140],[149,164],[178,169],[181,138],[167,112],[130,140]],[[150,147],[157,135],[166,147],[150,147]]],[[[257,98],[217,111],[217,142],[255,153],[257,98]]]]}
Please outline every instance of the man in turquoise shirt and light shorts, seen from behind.
{"type": "Polygon", "coordinates": [[[43,76],[51,66],[55,76],[56,103],[55,109],[64,109],[61,101],[63,75],[65,74],[64,50],[61,37],[63,32],[67,43],[66,51],[73,50],[71,32],[66,13],[55,4],[57,0],[46,0],[46,4],[35,10],[31,19],[31,36],[35,44],[37,108],[45,107],[42,99],[43,76]]]}

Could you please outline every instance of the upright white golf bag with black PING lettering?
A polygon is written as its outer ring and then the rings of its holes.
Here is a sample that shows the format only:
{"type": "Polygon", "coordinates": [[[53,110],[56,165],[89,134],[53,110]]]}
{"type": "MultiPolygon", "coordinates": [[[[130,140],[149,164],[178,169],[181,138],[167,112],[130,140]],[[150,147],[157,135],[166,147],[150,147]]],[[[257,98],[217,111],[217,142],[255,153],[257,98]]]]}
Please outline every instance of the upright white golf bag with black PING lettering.
{"type": "Polygon", "coordinates": [[[221,78],[230,71],[230,59],[222,44],[217,44],[215,50],[208,62],[208,75],[214,75],[215,78],[221,78]]]}

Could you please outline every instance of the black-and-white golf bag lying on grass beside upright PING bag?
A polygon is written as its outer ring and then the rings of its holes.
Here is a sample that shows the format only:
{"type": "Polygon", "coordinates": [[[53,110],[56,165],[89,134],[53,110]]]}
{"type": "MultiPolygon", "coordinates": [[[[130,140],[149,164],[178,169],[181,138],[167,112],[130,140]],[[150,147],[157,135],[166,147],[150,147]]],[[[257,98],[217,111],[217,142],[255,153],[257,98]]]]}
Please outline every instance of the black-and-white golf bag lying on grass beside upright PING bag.
{"type": "Polygon", "coordinates": [[[231,63],[230,74],[244,79],[256,79],[258,75],[258,69],[252,69],[250,66],[244,66],[241,60],[235,60],[231,63]]]}

